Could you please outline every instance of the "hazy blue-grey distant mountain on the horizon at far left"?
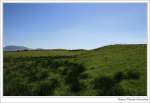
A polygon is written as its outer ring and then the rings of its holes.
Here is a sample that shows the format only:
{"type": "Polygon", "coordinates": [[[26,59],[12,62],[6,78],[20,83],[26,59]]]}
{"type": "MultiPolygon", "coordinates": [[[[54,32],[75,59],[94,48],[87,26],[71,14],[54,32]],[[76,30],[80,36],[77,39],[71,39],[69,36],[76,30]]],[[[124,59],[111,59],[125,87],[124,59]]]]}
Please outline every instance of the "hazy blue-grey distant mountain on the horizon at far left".
{"type": "Polygon", "coordinates": [[[14,45],[4,47],[4,51],[17,51],[17,50],[30,50],[30,48],[27,48],[25,46],[14,46],[14,45]]]}

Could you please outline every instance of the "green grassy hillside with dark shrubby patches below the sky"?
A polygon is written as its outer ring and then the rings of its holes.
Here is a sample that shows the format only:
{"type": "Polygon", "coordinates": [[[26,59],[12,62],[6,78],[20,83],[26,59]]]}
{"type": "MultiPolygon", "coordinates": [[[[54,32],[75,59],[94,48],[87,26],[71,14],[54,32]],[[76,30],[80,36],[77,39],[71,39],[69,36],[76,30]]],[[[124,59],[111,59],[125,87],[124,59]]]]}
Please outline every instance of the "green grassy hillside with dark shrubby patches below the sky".
{"type": "Polygon", "coordinates": [[[6,96],[145,96],[147,45],[4,52],[6,96]]]}

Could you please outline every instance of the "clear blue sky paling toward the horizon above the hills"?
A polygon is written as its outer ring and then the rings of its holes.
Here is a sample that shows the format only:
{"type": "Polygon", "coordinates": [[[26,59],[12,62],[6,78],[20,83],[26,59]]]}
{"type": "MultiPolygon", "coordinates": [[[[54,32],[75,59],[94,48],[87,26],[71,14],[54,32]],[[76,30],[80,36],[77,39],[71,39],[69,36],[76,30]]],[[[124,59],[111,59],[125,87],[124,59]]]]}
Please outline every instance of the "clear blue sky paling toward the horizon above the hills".
{"type": "Polygon", "coordinates": [[[147,42],[144,3],[4,4],[4,46],[92,49],[147,42]]]}

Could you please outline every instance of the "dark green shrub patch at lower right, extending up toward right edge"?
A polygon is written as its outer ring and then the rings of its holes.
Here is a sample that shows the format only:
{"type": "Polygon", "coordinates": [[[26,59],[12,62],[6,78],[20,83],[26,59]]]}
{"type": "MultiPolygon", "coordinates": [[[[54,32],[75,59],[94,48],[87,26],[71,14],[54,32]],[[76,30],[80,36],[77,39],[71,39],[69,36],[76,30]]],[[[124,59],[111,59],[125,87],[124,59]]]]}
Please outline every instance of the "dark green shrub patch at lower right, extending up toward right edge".
{"type": "Polygon", "coordinates": [[[135,70],[128,70],[127,72],[117,72],[111,77],[99,77],[94,80],[94,89],[97,95],[104,96],[124,96],[126,95],[124,89],[120,84],[121,81],[126,79],[139,79],[140,73],[135,70]]]}

